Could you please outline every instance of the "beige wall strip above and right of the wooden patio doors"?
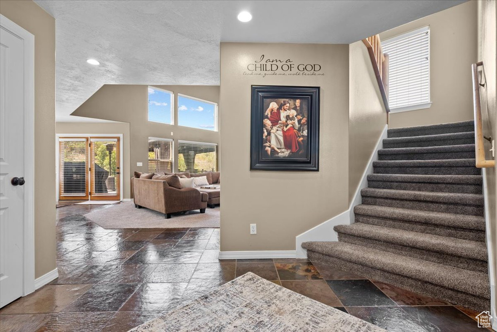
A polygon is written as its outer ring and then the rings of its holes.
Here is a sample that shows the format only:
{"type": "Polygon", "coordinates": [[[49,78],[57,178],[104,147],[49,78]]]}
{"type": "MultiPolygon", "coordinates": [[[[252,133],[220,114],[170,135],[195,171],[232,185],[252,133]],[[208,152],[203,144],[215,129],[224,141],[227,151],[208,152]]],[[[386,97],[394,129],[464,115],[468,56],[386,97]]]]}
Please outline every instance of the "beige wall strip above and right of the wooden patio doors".
{"type": "Polygon", "coordinates": [[[56,122],[55,132],[57,134],[122,134],[123,140],[120,144],[123,150],[123,165],[120,167],[120,173],[123,176],[123,198],[131,198],[129,123],[56,122]]]}

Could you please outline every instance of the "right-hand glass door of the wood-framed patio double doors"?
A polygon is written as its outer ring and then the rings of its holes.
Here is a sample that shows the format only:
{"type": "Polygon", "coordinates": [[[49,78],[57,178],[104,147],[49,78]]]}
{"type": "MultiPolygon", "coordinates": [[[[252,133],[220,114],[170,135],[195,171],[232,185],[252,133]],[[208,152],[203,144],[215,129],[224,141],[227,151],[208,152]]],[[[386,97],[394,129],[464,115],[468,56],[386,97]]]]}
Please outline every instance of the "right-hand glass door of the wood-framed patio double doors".
{"type": "Polygon", "coordinates": [[[90,200],[119,200],[119,137],[90,137],[90,200]]]}

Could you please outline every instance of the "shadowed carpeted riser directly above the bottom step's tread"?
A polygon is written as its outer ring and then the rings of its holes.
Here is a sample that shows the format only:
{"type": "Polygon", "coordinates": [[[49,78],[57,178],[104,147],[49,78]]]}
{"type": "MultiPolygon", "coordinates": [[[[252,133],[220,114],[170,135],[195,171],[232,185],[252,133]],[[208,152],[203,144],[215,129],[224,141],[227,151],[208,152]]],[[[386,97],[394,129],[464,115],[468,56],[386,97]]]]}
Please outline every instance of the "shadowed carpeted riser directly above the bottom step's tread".
{"type": "Polygon", "coordinates": [[[434,252],[414,247],[401,246],[383,241],[366,239],[342,233],[338,233],[338,240],[341,242],[346,242],[352,245],[362,246],[365,248],[374,248],[374,249],[389,251],[404,256],[429,260],[439,264],[445,264],[454,267],[464,268],[466,270],[487,273],[487,266],[488,266],[487,262],[478,259],[460,257],[447,253],[434,252]]]}

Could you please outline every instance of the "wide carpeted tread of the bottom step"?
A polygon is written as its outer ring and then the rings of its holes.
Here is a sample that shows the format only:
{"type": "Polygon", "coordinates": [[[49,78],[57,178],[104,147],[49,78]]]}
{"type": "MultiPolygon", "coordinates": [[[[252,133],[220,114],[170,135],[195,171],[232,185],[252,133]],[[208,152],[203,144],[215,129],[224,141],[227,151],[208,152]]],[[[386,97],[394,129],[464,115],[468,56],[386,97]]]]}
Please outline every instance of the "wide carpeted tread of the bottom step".
{"type": "Polygon", "coordinates": [[[343,242],[304,242],[302,248],[490,299],[487,273],[343,242]]]}

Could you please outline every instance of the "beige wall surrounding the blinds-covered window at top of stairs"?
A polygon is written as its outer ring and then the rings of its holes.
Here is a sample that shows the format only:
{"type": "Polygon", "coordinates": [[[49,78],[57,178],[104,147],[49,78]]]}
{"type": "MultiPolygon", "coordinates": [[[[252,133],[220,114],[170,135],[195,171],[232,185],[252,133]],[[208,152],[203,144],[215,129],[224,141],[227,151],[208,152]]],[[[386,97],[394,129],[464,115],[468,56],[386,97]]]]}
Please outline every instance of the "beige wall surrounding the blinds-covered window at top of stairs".
{"type": "Polygon", "coordinates": [[[471,64],[477,62],[477,2],[468,1],[380,34],[385,40],[430,26],[431,107],[391,113],[390,128],[473,119],[471,64]]]}

